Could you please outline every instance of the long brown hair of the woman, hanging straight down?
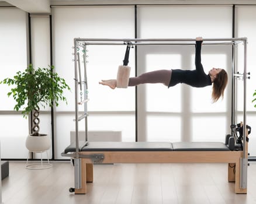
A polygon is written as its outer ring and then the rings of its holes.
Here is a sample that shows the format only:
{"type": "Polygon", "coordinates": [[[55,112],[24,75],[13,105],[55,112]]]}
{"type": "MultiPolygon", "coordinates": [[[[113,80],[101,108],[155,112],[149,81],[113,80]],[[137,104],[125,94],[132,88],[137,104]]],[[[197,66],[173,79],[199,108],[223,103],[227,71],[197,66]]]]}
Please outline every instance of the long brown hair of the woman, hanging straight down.
{"type": "Polygon", "coordinates": [[[212,99],[213,103],[215,103],[217,100],[220,99],[220,97],[224,96],[224,90],[227,86],[227,72],[222,69],[220,71],[215,80],[213,81],[213,87],[212,87],[212,99]]]}

